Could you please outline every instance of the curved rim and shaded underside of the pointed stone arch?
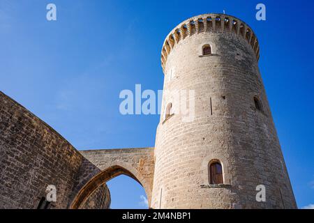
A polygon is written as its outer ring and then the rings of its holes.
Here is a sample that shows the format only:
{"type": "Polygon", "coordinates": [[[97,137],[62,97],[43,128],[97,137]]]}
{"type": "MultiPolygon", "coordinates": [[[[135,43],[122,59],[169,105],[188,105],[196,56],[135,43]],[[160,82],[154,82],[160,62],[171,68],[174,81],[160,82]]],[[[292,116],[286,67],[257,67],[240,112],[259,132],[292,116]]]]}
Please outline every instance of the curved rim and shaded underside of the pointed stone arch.
{"type": "Polygon", "coordinates": [[[103,171],[100,171],[100,173],[96,174],[96,176],[92,177],[85,185],[82,187],[82,189],[77,193],[75,196],[75,199],[73,200],[70,208],[71,209],[77,209],[80,207],[82,203],[103,183],[106,183],[108,180],[111,180],[112,178],[115,178],[117,176],[120,176],[121,174],[124,174],[126,176],[129,176],[130,178],[133,178],[136,180],[142,187],[144,187],[144,190],[147,194],[147,198],[149,199],[150,203],[150,197],[151,197],[151,188],[149,187],[149,183],[144,180],[144,178],[136,171],[136,169],[133,169],[133,167],[129,166],[128,164],[115,164],[111,167],[107,167],[103,169],[103,171]]]}

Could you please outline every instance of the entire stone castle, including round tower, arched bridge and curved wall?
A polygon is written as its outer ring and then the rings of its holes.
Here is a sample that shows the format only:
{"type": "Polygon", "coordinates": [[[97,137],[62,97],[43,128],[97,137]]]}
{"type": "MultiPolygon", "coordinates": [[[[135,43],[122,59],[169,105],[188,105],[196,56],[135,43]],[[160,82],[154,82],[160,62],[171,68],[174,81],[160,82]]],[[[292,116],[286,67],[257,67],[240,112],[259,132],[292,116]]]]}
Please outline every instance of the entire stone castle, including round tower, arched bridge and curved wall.
{"type": "Polygon", "coordinates": [[[236,17],[204,14],[176,26],[161,52],[155,148],[77,151],[0,91],[0,208],[38,208],[47,185],[57,187],[50,208],[110,208],[106,182],[121,174],[144,187],[150,208],[297,208],[259,58],[255,33],[236,17]],[[189,120],[177,98],[184,91],[194,93],[189,120]],[[223,183],[210,183],[213,162],[223,183]],[[256,201],[257,185],[266,201],[256,201]]]}

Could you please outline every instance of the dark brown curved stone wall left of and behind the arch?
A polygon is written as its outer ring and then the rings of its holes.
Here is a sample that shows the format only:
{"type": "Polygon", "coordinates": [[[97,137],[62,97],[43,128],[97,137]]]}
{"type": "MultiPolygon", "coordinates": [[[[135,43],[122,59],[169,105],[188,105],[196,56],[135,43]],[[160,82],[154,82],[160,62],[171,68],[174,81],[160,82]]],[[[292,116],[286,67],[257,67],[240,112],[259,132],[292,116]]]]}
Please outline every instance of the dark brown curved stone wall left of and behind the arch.
{"type": "MultiPolygon", "coordinates": [[[[37,208],[47,185],[57,187],[51,208],[68,208],[84,160],[49,125],[0,92],[0,208],[37,208]]],[[[96,208],[109,206],[106,185],[82,208],[93,203],[96,208]]]]}

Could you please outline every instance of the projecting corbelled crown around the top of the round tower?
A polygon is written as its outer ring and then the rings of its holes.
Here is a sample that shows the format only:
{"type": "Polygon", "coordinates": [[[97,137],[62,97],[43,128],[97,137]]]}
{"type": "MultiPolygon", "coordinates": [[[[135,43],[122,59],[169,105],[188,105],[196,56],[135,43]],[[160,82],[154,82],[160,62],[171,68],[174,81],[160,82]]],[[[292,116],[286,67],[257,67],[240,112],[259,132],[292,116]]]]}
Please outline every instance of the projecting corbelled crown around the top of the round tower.
{"type": "Polygon", "coordinates": [[[231,15],[202,14],[181,22],[165,38],[161,51],[161,66],[163,70],[167,62],[167,56],[172,51],[174,45],[188,38],[188,36],[203,32],[228,32],[241,36],[248,45],[251,45],[257,61],[260,59],[260,46],[257,37],[248,24],[231,15]]]}

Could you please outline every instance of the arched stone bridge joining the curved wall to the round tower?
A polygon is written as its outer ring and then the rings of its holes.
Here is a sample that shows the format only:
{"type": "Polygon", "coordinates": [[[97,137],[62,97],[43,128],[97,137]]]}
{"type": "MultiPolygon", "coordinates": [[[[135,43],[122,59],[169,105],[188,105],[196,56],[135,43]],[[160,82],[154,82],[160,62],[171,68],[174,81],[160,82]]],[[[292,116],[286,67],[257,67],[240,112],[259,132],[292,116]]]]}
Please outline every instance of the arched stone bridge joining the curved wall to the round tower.
{"type": "Polygon", "coordinates": [[[154,177],[154,148],[121,148],[80,151],[84,160],[77,173],[69,208],[78,208],[100,185],[121,174],[144,187],[151,202],[154,177]]]}

